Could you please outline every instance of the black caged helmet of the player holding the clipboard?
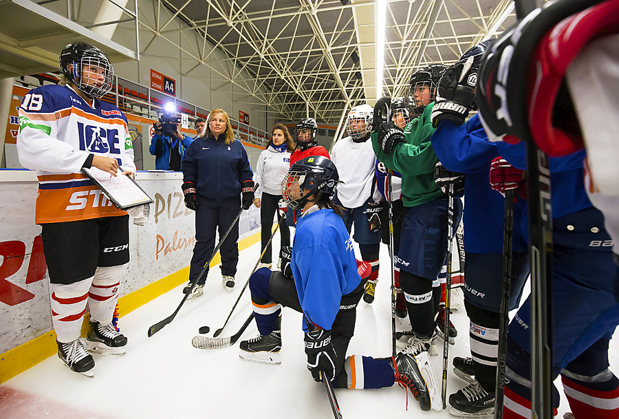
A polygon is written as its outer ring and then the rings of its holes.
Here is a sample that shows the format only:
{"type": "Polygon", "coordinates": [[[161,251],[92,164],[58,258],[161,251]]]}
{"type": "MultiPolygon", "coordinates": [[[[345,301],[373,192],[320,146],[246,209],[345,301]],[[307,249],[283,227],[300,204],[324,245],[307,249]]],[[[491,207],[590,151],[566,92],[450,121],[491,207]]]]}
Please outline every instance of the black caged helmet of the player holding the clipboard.
{"type": "Polygon", "coordinates": [[[61,52],[60,65],[69,82],[74,83],[89,98],[100,98],[111,90],[114,69],[107,56],[97,47],[81,41],[69,43],[61,52]],[[71,69],[69,64],[73,65],[71,69]],[[83,70],[90,67],[102,69],[103,80],[98,78],[83,80],[83,70]]]}

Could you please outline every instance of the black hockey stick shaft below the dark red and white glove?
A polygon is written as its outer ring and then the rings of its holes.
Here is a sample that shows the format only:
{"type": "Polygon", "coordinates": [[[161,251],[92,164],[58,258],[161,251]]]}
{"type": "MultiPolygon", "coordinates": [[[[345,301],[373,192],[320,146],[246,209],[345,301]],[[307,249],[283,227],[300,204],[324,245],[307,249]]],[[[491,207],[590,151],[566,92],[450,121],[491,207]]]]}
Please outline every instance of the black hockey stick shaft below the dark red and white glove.
{"type": "Polygon", "coordinates": [[[503,418],[507,332],[510,324],[510,292],[512,287],[512,233],[514,229],[514,190],[505,193],[505,230],[503,231],[503,288],[501,288],[501,323],[499,323],[499,352],[497,383],[495,384],[495,419],[503,418]]]}

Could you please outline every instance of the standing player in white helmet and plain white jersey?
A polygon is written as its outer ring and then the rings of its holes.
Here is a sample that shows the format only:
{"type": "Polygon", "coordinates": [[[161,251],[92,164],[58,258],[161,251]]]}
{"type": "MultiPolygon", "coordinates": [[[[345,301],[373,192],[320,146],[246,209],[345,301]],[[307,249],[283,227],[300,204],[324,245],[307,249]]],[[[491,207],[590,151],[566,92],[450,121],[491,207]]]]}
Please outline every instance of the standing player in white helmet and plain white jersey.
{"type": "Polygon", "coordinates": [[[348,114],[348,136],[338,140],[331,150],[331,160],[340,175],[334,203],[342,206],[344,224],[359,244],[361,259],[372,267],[365,283],[363,300],[371,304],[378,282],[378,250],[380,248],[380,202],[374,202],[374,165],[376,155],[369,140],[372,129],[372,108],[357,105],[348,114]]]}

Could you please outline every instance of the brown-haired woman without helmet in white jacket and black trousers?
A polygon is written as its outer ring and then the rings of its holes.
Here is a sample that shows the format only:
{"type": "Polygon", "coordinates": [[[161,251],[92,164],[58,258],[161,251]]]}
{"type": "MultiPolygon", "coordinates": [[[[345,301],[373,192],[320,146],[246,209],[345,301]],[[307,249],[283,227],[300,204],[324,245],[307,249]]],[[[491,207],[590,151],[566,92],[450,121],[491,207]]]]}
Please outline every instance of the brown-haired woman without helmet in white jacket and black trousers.
{"type": "MultiPolygon", "coordinates": [[[[261,251],[267,247],[271,237],[273,217],[277,213],[279,232],[281,234],[281,246],[290,246],[290,228],[285,222],[281,222],[282,211],[277,211],[281,196],[281,180],[290,169],[290,153],[294,151],[294,142],[288,129],[281,124],[273,127],[271,142],[260,153],[254,173],[254,182],[260,186],[256,189],[254,205],[260,208],[260,224],[262,226],[261,251]]],[[[283,209],[283,208],[282,208],[283,209]]],[[[260,268],[271,268],[271,245],[261,259],[260,268]]]]}

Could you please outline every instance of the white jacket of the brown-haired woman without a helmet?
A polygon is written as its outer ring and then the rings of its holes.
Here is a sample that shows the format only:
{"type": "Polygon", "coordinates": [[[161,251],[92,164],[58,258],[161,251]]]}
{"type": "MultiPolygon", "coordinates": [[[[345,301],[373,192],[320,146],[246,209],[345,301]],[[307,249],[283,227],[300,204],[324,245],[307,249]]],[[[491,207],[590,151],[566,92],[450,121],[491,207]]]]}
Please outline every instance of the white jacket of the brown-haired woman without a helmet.
{"type": "Polygon", "coordinates": [[[290,151],[276,151],[272,144],[260,153],[254,182],[260,186],[254,192],[257,198],[262,197],[262,192],[271,195],[281,195],[281,181],[290,170],[290,151]]]}

